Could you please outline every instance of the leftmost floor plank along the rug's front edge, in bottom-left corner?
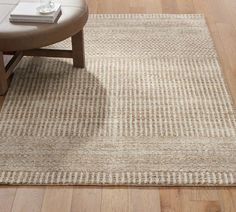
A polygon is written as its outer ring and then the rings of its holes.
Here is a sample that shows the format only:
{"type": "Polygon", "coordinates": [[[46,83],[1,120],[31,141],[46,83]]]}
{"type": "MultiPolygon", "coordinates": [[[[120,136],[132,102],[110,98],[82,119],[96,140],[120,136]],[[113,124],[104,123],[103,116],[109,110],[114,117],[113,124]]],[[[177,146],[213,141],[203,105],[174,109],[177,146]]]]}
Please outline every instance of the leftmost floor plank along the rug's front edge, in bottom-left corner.
{"type": "Polygon", "coordinates": [[[16,195],[16,187],[0,187],[0,211],[10,212],[16,195]]]}

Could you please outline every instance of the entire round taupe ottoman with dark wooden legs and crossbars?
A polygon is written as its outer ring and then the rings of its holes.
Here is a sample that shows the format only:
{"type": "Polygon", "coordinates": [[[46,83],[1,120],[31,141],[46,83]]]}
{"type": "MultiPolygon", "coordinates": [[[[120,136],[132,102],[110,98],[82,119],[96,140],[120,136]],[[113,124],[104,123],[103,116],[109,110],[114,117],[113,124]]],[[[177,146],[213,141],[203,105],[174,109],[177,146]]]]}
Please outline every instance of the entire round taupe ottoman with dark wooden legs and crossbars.
{"type": "Polygon", "coordinates": [[[11,23],[9,14],[19,1],[0,1],[0,95],[6,93],[8,79],[23,56],[73,58],[75,67],[85,65],[83,27],[88,19],[88,7],[84,0],[61,0],[62,13],[54,24],[11,23]],[[69,37],[72,50],[40,49],[69,37]],[[4,54],[13,55],[6,67],[4,54]]]}

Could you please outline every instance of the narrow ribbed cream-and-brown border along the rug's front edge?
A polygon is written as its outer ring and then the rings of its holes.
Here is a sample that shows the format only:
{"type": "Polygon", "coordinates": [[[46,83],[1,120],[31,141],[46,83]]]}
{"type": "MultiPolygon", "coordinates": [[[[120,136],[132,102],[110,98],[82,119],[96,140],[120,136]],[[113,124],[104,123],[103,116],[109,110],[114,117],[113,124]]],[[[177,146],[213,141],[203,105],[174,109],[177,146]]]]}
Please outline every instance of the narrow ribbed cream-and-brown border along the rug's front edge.
{"type": "Polygon", "coordinates": [[[1,171],[0,185],[236,186],[236,173],[1,171]]]}

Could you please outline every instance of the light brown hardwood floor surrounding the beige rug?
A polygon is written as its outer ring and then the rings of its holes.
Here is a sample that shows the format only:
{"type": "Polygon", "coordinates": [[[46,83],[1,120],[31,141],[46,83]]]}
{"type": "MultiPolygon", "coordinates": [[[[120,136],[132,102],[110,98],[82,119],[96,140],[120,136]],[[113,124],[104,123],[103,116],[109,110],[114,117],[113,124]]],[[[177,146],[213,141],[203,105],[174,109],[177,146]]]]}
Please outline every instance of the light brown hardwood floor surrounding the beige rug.
{"type": "MultiPolygon", "coordinates": [[[[204,13],[236,100],[235,0],[88,0],[90,13],[204,13]]],[[[0,105],[3,102],[0,97],[0,105]]],[[[0,187],[0,212],[236,212],[236,188],[0,187]]]]}

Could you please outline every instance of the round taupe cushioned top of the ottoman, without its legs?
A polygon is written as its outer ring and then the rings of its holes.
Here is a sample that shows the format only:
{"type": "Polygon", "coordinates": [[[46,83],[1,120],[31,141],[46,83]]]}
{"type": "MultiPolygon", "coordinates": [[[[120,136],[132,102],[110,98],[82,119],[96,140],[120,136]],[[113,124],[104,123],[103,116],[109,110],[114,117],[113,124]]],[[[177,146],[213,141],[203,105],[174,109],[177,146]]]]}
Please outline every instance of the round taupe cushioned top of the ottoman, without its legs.
{"type": "Polygon", "coordinates": [[[87,20],[88,9],[84,0],[59,0],[62,15],[55,24],[11,23],[10,13],[20,1],[40,2],[40,0],[0,0],[0,51],[35,48],[63,40],[75,34],[77,28],[81,28],[80,25],[84,25],[87,20]],[[24,43],[27,39],[32,43],[31,46],[24,43]],[[44,39],[48,42],[44,43],[44,39]]]}

